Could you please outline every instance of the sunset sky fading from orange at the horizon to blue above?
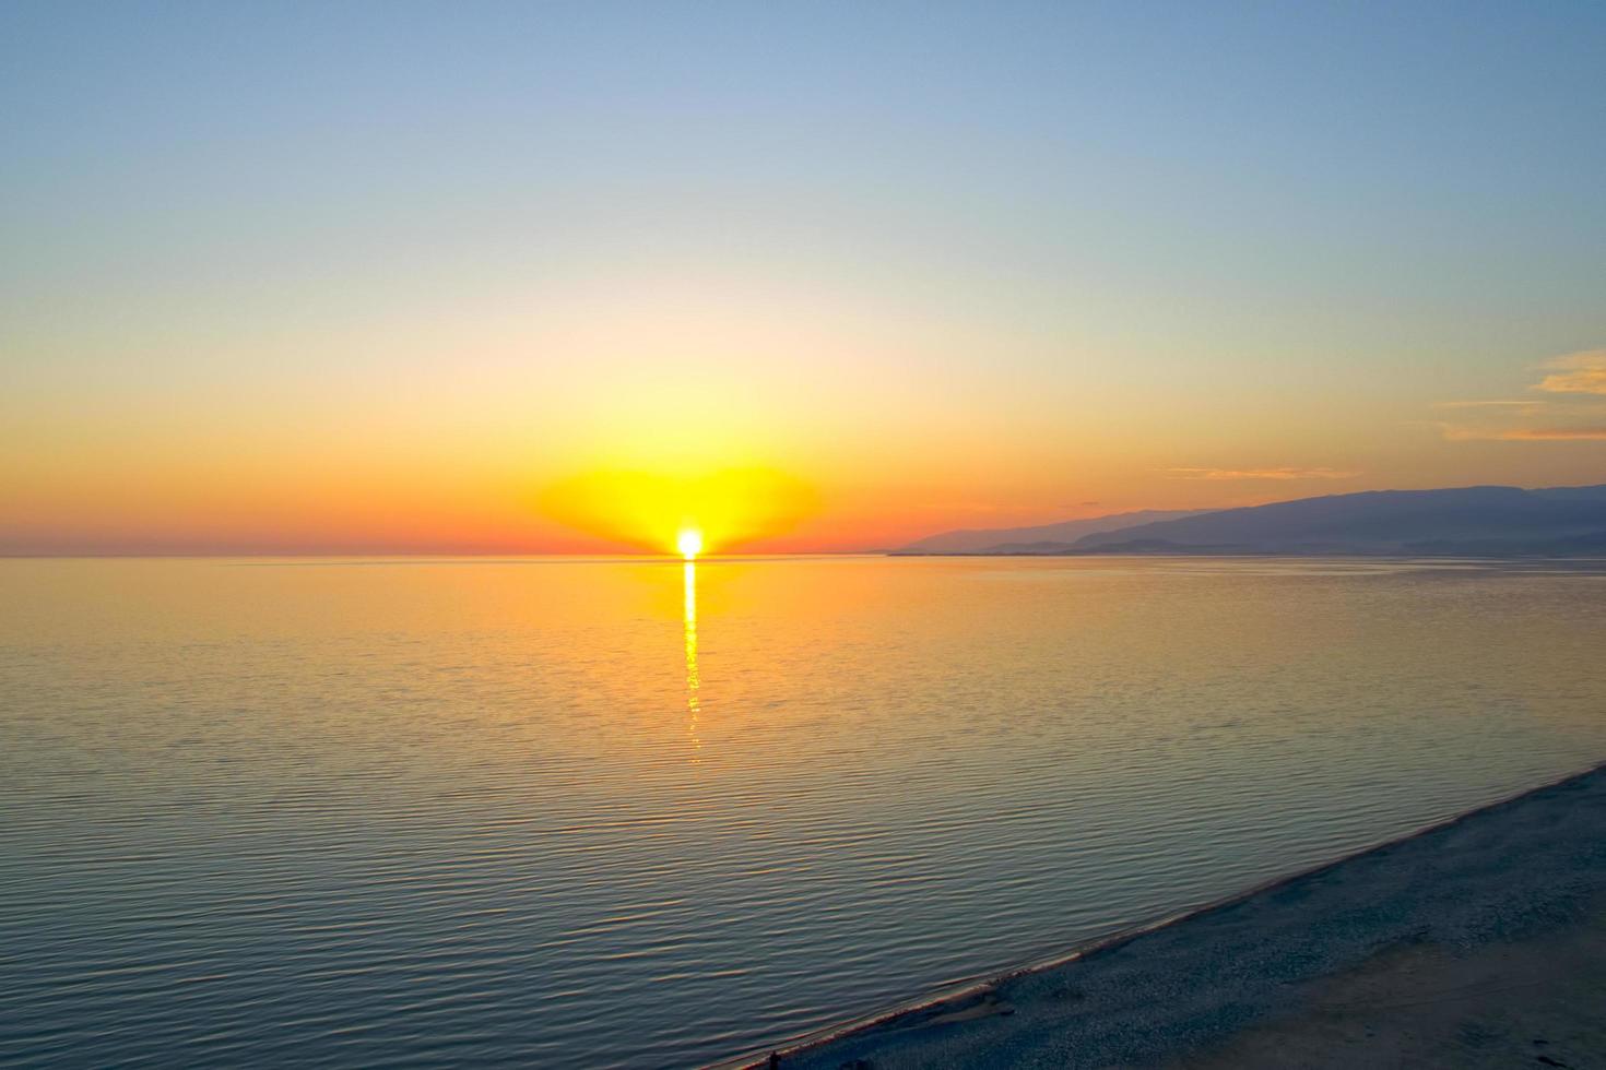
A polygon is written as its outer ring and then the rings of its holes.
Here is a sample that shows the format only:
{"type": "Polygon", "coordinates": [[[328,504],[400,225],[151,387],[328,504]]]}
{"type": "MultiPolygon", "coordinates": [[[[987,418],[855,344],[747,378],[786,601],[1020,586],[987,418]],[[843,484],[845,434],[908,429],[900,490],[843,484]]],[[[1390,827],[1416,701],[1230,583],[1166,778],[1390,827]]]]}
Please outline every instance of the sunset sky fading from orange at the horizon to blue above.
{"type": "Polygon", "coordinates": [[[0,553],[1606,481],[1606,5],[0,5],[0,553]]]}

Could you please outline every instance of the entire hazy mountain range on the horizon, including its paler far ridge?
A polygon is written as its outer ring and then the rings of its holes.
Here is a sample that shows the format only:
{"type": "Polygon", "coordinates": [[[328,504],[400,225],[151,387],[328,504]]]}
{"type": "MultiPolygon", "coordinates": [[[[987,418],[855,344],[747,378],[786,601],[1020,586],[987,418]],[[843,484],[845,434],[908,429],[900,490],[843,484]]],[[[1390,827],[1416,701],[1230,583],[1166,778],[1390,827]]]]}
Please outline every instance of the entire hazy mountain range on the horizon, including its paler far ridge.
{"type": "Polygon", "coordinates": [[[1606,555],[1606,484],[1365,491],[1200,513],[951,531],[899,553],[1606,555]]]}

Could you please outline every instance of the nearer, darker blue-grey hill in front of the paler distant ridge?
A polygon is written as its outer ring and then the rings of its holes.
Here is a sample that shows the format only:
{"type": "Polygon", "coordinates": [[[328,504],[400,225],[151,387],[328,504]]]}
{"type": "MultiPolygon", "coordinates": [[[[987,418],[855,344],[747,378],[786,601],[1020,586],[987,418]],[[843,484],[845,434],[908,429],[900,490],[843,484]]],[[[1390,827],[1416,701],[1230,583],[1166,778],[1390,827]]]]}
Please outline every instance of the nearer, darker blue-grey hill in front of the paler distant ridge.
{"type": "Polygon", "coordinates": [[[1502,555],[1587,552],[1598,545],[1588,536],[1600,533],[1606,533],[1606,486],[1468,486],[1225,509],[1092,533],[1065,552],[1455,553],[1476,547],[1502,555]]]}

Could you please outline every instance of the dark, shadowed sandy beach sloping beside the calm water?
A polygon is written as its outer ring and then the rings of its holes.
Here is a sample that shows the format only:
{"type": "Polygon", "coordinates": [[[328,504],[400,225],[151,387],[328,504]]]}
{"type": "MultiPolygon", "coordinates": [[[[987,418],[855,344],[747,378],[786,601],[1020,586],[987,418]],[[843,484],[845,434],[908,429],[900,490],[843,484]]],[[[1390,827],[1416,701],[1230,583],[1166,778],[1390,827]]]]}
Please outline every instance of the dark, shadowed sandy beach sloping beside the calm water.
{"type": "Polygon", "coordinates": [[[781,1065],[1606,1067],[1606,767],[781,1065]]]}

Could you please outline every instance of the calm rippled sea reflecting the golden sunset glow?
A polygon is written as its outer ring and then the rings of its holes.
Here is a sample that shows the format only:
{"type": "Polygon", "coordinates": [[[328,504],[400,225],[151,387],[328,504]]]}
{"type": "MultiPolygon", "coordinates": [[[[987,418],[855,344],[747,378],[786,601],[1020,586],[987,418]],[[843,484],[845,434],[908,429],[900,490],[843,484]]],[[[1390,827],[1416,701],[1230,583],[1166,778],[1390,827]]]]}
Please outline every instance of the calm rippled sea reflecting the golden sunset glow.
{"type": "Polygon", "coordinates": [[[0,1062],[687,1065],[1606,759],[1606,576],[0,561],[0,1062]]]}

